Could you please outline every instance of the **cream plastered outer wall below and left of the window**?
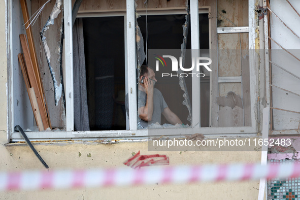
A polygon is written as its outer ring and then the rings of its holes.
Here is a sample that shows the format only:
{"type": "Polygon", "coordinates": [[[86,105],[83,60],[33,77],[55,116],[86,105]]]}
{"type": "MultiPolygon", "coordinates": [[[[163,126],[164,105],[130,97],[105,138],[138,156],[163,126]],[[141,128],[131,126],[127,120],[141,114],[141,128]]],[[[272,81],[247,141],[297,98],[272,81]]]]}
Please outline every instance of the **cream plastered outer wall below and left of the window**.
{"type": "MultiPolygon", "coordinates": [[[[6,1],[0,1],[0,171],[44,167],[25,144],[7,143],[8,56],[6,40],[6,1]]],[[[259,162],[260,152],[147,152],[147,143],[124,142],[104,145],[91,142],[35,143],[38,152],[52,169],[111,168],[124,166],[132,152],[160,153],[170,157],[170,165],[259,162]],[[79,156],[79,152],[81,156],[79,156]],[[91,154],[90,157],[87,157],[91,154]]],[[[83,188],[0,192],[1,199],[257,199],[259,181],[220,182],[190,185],[149,185],[135,187],[83,188]]]]}

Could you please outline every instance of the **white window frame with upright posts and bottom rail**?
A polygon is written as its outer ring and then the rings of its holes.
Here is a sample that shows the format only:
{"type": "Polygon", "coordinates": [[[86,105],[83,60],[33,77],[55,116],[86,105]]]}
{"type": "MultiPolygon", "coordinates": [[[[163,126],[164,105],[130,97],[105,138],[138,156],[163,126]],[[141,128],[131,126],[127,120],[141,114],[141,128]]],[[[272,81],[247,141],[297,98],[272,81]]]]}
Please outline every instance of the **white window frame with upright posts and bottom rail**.
{"type": "MultiPolygon", "coordinates": [[[[125,26],[125,82],[126,92],[129,93],[129,130],[98,130],[98,131],[74,131],[74,98],[73,98],[73,42],[72,42],[72,2],[66,0],[64,3],[64,30],[65,30],[65,93],[66,93],[66,131],[61,132],[26,132],[27,137],[32,140],[97,140],[99,138],[128,138],[132,139],[145,139],[148,136],[147,129],[137,129],[137,87],[136,79],[136,45],[135,45],[135,0],[126,0],[126,13],[125,11],[117,11],[114,15],[107,13],[107,16],[124,16],[125,26]]],[[[255,49],[255,1],[249,0],[249,49],[253,51],[255,49]]],[[[201,9],[198,8],[198,1],[190,0],[190,23],[191,23],[191,40],[192,49],[199,49],[199,29],[198,29],[198,14],[201,13],[201,9]],[[194,24],[194,25],[193,25],[194,24]]],[[[182,8],[181,8],[182,9],[182,8]]],[[[210,9],[205,7],[204,9],[210,9]]],[[[176,10],[176,9],[174,9],[176,10]]],[[[173,11],[174,11],[173,10],[173,11]]],[[[157,9],[157,12],[164,11],[164,9],[157,9]]],[[[149,10],[148,10],[149,12],[149,10]]],[[[209,10],[210,12],[210,10],[209,10]]],[[[103,14],[103,13],[102,13],[103,14]]],[[[148,13],[149,14],[149,13],[148,13]]],[[[97,13],[86,14],[79,13],[80,17],[98,15],[97,13]]],[[[209,19],[211,20],[211,19],[209,19]]],[[[209,21],[211,31],[211,21],[209,21]]],[[[217,27],[216,27],[217,28],[217,27]]],[[[210,39],[211,41],[211,39],[210,39]]],[[[156,129],[157,135],[175,136],[190,135],[201,133],[210,136],[256,136],[257,124],[256,114],[254,112],[256,108],[256,74],[258,61],[257,56],[253,53],[249,55],[250,65],[250,98],[251,98],[251,126],[240,127],[199,127],[200,121],[200,104],[192,106],[193,110],[193,128],[168,128],[168,129],[156,129]]],[[[11,77],[12,78],[12,77],[11,77]]],[[[200,82],[199,79],[192,80],[192,102],[200,102],[200,82]],[[197,95],[195,95],[197,94],[197,95]]],[[[211,101],[210,101],[211,102],[211,101]]],[[[13,124],[9,124],[8,127],[12,127],[13,124]]],[[[23,141],[23,138],[19,132],[12,132],[12,141],[23,141]]]]}

